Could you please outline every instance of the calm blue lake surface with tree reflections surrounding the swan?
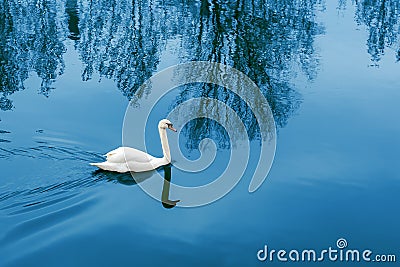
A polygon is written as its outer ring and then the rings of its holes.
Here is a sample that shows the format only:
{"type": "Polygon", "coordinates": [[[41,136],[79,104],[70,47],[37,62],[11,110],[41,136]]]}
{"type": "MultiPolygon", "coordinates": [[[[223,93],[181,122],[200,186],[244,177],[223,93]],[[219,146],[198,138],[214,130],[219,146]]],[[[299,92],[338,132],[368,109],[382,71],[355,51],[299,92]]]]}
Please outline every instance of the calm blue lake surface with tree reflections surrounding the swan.
{"type": "MultiPolygon", "coordinates": [[[[257,259],[264,245],[320,251],[339,238],[399,261],[399,1],[22,0],[0,9],[0,266],[371,264],[257,259]],[[252,153],[223,198],[166,208],[129,174],[89,163],[122,144],[129,101],[146,97],[140,85],[190,61],[229,65],[257,84],[276,153],[248,193],[262,141],[251,109],[216,86],[178,87],[149,129],[179,103],[215,98],[242,119],[252,153]]],[[[215,120],[179,130],[185,157],[197,159],[204,138],[217,155],[200,174],[173,162],[178,184],[213,181],[237,150],[215,120]]],[[[161,156],[148,132],[149,153],[161,156]]],[[[157,175],[164,170],[149,179],[157,175]]]]}

